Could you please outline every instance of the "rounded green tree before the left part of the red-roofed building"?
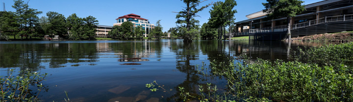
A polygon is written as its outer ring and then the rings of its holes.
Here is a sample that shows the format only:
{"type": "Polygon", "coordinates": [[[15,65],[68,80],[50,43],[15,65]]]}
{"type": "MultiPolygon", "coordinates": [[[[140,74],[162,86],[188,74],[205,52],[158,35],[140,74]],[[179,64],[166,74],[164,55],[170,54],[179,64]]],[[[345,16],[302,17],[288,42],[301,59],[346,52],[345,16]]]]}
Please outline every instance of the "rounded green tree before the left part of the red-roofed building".
{"type": "Polygon", "coordinates": [[[133,36],[133,24],[131,22],[124,22],[122,25],[122,38],[130,39],[133,36]]]}

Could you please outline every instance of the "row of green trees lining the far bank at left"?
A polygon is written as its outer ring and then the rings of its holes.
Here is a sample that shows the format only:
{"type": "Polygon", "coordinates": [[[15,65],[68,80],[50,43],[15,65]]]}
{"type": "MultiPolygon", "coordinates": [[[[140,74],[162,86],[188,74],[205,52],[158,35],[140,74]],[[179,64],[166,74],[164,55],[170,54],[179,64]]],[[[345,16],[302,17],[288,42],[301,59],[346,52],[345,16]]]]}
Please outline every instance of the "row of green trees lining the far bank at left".
{"type": "Polygon", "coordinates": [[[14,0],[12,7],[16,12],[0,12],[0,39],[8,36],[20,36],[21,39],[59,35],[65,39],[92,39],[96,33],[98,21],[92,16],[79,18],[76,14],[67,19],[57,12],[48,12],[48,17],[38,18],[41,11],[29,8],[28,2],[14,0]]]}

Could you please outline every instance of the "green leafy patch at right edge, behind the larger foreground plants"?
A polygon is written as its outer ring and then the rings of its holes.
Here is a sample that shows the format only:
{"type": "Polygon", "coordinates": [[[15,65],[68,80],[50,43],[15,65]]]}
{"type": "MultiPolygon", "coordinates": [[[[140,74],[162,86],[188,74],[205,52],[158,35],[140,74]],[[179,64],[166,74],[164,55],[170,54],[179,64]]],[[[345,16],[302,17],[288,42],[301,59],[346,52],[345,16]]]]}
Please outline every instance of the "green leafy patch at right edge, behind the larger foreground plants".
{"type": "Polygon", "coordinates": [[[298,61],[317,64],[339,65],[340,63],[351,64],[353,62],[353,42],[339,45],[326,45],[309,48],[306,51],[299,49],[295,58],[298,61]]]}

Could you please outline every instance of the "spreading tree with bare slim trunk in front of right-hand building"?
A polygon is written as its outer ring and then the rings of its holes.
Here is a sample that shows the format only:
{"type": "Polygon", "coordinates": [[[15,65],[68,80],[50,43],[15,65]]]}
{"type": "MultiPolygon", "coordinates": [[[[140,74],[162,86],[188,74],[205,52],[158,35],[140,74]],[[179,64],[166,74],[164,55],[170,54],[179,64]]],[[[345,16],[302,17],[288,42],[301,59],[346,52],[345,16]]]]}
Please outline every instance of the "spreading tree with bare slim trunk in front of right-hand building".
{"type": "Polygon", "coordinates": [[[262,12],[267,13],[267,17],[287,17],[287,38],[291,41],[291,17],[295,17],[297,13],[305,11],[305,5],[302,5],[302,0],[267,0],[267,3],[262,3],[265,9],[262,12]]]}

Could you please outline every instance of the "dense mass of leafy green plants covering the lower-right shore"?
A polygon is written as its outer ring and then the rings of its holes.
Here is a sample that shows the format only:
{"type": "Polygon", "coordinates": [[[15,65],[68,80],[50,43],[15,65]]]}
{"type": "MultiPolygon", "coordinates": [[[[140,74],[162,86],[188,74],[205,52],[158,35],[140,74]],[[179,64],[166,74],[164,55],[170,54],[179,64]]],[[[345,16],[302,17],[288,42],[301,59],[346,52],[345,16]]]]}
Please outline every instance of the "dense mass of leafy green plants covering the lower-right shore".
{"type": "MultiPolygon", "coordinates": [[[[184,101],[199,100],[201,102],[225,100],[352,102],[353,68],[344,65],[353,60],[352,50],[353,43],[346,43],[300,51],[301,57],[298,59],[301,60],[298,61],[284,62],[282,60],[258,59],[255,62],[248,63],[247,59],[244,58],[240,59],[244,63],[237,64],[234,64],[233,60],[221,63],[211,61],[210,70],[207,70],[202,64],[202,68],[198,68],[197,71],[201,76],[225,77],[227,79],[227,88],[225,88],[227,92],[217,94],[214,92],[217,90],[216,86],[210,87],[209,85],[208,88],[202,88],[199,85],[200,92],[198,93],[184,92],[184,90],[181,90],[183,87],[179,87],[181,91],[177,94],[180,94],[179,98],[184,101]],[[306,62],[310,62],[310,64],[306,64],[306,62]],[[319,65],[316,63],[329,64],[319,65]],[[208,71],[211,74],[207,74],[208,71]],[[218,96],[218,98],[214,96],[218,96]]],[[[154,88],[154,91],[156,90],[158,88],[154,88]]]]}

